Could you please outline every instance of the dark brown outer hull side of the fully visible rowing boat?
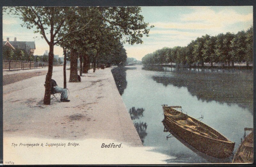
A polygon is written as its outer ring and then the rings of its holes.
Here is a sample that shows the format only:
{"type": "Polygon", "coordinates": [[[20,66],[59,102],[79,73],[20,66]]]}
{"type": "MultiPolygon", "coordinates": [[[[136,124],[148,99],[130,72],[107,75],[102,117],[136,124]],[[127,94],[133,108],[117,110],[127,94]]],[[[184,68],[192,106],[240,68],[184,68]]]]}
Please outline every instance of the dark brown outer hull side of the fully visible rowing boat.
{"type": "Polygon", "coordinates": [[[192,131],[185,130],[176,123],[167,121],[166,119],[165,123],[177,136],[206,155],[216,158],[227,158],[233,153],[235,146],[235,143],[233,142],[204,137],[192,131]]]}

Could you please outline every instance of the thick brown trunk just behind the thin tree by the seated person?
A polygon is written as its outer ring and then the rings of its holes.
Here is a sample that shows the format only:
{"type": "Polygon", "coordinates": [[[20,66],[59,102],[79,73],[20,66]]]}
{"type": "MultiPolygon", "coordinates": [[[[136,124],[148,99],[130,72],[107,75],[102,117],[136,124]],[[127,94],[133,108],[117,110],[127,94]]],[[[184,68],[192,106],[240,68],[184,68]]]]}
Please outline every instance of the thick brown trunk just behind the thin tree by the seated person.
{"type": "Polygon", "coordinates": [[[70,50],[70,77],[69,82],[79,82],[77,77],[77,55],[74,49],[70,50]]]}

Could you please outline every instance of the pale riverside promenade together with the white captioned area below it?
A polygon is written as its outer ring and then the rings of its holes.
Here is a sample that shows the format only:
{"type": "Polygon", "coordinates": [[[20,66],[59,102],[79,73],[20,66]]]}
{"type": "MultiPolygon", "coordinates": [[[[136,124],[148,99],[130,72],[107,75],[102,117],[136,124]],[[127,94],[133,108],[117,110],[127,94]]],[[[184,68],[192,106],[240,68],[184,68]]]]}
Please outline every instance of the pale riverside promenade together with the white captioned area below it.
{"type": "MultiPolygon", "coordinates": [[[[63,87],[63,67],[54,68],[52,78],[63,87]]],[[[82,82],[67,82],[70,100],[68,103],[52,99],[51,105],[43,104],[44,75],[4,85],[4,162],[13,160],[15,164],[164,163],[162,160],[166,155],[148,151],[153,148],[143,147],[116,88],[111,69],[100,69],[95,73],[89,70],[88,74],[81,77],[82,82]],[[12,143],[16,143],[17,146],[14,147],[12,143]],[[43,146],[22,145],[29,143],[40,143],[43,146]],[[49,146],[46,143],[59,143],[60,146],[49,146]],[[66,147],[62,146],[64,143],[66,147]],[[68,146],[68,143],[79,145],[68,146]],[[102,148],[103,143],[114,143],[120,147],[102,148]]]]}

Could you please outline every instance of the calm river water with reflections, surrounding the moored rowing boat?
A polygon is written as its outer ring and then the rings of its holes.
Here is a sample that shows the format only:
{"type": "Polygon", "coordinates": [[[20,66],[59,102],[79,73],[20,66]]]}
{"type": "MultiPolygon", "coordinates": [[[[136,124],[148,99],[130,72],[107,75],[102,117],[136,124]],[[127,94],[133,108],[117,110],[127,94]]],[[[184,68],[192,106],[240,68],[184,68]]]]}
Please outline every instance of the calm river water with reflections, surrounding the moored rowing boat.
{"type": "MultiPolygon", "coordinates": [[[[166,140],[163,104],[182,106],[183,112],[236,142],[244,127],[253,127],[252,70],[121,67],[113,70],[122,95],[144,146],[169,155],[168,163],[230,163],[205,155],[177,136],[166,140]]],[[[175,134],[174,134],[175,136],[175,134]]]]}

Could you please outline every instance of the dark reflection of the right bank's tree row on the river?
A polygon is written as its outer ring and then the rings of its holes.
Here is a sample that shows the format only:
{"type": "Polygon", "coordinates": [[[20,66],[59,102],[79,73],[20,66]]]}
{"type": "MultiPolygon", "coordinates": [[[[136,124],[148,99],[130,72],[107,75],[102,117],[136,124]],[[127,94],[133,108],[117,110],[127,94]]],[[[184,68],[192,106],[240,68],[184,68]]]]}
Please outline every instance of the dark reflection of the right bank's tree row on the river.
{"type": "MultiPolygon", "coordinates": [[[[167,67],[151,70],[169,71],[167,67]]],[[[154,75],[152,78],[164,86],[187,87],[198,100],[235,103],[253,112],[253,76],[250,70],[173,68],[169,75],[154,75]]]]}

